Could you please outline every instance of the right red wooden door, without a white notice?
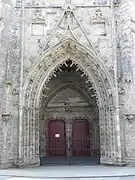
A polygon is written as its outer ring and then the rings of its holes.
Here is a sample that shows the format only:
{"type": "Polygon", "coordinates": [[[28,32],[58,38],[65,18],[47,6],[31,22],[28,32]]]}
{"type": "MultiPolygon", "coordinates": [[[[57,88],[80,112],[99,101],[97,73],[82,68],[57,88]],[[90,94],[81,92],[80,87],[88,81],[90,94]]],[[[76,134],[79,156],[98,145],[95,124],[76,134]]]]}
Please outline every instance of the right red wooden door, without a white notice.
{"type": "Polygon", "coordinates": [[[88,121],[76,121],[73,123],[73,156],[90,155],[89,123],[88,121]]]}

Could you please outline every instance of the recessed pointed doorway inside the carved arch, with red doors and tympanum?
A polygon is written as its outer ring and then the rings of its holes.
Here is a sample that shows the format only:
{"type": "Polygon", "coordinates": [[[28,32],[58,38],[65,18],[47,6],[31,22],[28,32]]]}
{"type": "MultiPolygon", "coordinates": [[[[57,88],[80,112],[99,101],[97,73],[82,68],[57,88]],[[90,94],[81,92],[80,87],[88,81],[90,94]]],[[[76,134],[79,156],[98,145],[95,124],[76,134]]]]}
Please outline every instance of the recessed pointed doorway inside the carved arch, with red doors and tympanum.
{"type": "Polygon", "coordinates": [[[71,64],[67,60],[56,71],[42,101],[42,164],[99,164],[98,107],[95,97],[91,98],[94,91],[87,88],[91,83],[86,83],[81,70],[71,64]]]}

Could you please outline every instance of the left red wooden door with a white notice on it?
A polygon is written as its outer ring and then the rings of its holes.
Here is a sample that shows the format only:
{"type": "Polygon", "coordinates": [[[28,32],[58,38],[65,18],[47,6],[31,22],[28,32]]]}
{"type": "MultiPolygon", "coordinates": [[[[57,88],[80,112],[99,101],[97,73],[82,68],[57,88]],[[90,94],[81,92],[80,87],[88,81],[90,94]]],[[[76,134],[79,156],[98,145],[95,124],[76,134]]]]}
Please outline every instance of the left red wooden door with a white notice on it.
{"type": "Polygon", "coordinates": [[[66,154],[64,121],[52,120],[48,124],[48,154],[49,156],[66,154]]]}

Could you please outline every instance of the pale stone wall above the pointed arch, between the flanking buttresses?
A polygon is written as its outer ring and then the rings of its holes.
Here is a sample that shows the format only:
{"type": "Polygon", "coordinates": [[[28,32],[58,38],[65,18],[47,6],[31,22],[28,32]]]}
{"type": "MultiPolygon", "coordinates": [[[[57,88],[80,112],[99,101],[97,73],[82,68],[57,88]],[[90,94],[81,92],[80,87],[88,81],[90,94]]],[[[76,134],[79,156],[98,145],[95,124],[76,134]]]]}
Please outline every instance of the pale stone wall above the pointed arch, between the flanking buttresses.
{"type": "MultiPolygon", "coordinates": [[[[112,59],[112,10],[110,6],[97,6],[95,1],[72,1],[78,5],[74,9],[76,18],[71,17],[74,21],[72,26],[72,38],[76,38],[80,43],[88,43],[87,36],[93,43],[94,48],[100,54],[102,61],[113,74],[113,59],[112,59]],[[94,5],[94,7],[92,7],[94,5]],[[83,8],[85,6],[85,8],[83,8]],[[100,7],[100,8],[99,8],[100,7]],[[81,27],[84,30],[82,33],[81,27]]],[[[31,65],[37,61],[38,57],[43,53],[47,46],[51,47],[59,43],[62,37],[69,36],[64,34],[64,17],[60,19],[64,13],[64,1],[36,1],[26,2],[25,8],[25,32],[24,32],[24,77],[27,77],[31,65]],[[42,7],[42,8],[41,8],[42,7]],[[46,8],[48,7],[48,8],[46,8]],[[63,7],[63,8],[62,8],[63,7]],[[59,26],[57,25],[58,23],[59,26]],[[51,40],[50,40],[50,37],[51,40]],[[50,42],[49,42],[50,41],[50,42]],[[49,42],[49,44],[47,44],[49,42]]],[[[104,5],[104,3],[103,3],[104,5]]],[[[74,8],[74,5],[73,5],[74,8]]],[[[88,44],[89,46],[89,44],[88,44]]]]}

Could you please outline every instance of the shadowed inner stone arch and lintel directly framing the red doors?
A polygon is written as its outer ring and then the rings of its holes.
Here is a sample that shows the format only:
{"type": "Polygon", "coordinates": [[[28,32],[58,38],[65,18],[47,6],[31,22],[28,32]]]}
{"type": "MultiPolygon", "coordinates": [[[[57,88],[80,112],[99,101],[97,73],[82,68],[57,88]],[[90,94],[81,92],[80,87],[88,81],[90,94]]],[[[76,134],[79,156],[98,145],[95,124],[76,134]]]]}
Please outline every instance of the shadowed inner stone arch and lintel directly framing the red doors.
{"type": "MultiPolygon", "coordinates": [[[[49,93],[48,93],[48,97],[43,98],[42,108],[41,108],[41,111],[40,111],[40,123],[41,123],[41,132],[40,132],[40,144],[41,144],[41,146],[40,147],[43,147],[42,150],[40,150],[42,152],[41,158],[43,156],[46,156],[45,142],[46,142],[46,139],[48,139],[48,137],[47,137],[48,128],[47,127],[48,127],[48,121],[49,120],[62,119],[62,120],[65,121],[65,124],[66,124],[66,138],[67,139],[69,139],[69,137],[72,136],[72,133],[73,133],[72,132],[73,131],[72,125],[73,125],[73,123],[75,123],[78,120],[79,121],[87,121],[89,124],[91,122],[91,118],[89,118],[89,116],[87,114],[88,109],[85,112],[83,112],[83,114],[81,113],[81,115],[79,113],[78,113],[78,115],[77,114],[76,115],[75,114],[71,115],[72,112],[74,112],[74,105],[71,105],[71,106],[70,105],[69,106],[66,106],[66,105],[63,106],[62,105],[62,108],[65,109],[65,115],[63,114],[63,110],[62,110],[62,113],[61,113],[61,108],[59,106],[57,107],[57,105],[55,107],[56,112],[53,109],[54,108],[53,107],[52,110],[51,110],[51,113],[49,113],[49,114],[47,113],[49,102],[52,101],[53,98],[55,98],[59,93],[61,93],[63,90],[65,90],[67,88],[79,93],[81,95],[81,97],[83,97],[85,99],[85,102],[87,102],[89,104],[89,108],[91,108],[91,106],[92,106],[92,108],[94,107],[94,109],[96,108],[96,112],[98,114],[98,109],[97,109],[97,105],[96,105],[96,102],[95,102],[95,98],[94,99],[91,98],[90,95],[87,92],[87,89],[83,88],[83,87],[80,87],[79,83],[78,84],[74,84],[73,82],[62,83],[62,84],[59,84],[58,86],[56,86],[54,89],[51,89],[51,91],[49,91],[49,93]],[[68,113],[70,114],[70,118],[67,116],[68,113]],[[44,136],[44,134],[45,134],[45,136],[44,136]]],[[[79,106],[79,107],[81,108],[81,106],[79,106]]],[[[93,111],[91,111],[91,113],[92,112],[93,111]]],[[[93,114],[91,116],[93,116],[93,114]]],[[[99,143],[99,141],[98,141],[98,143],[99,143]]],[[[67,152],[67,154],[68,154],[68,152],[67,152]]]]}

